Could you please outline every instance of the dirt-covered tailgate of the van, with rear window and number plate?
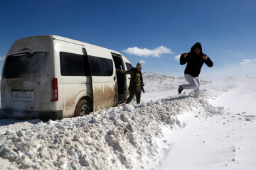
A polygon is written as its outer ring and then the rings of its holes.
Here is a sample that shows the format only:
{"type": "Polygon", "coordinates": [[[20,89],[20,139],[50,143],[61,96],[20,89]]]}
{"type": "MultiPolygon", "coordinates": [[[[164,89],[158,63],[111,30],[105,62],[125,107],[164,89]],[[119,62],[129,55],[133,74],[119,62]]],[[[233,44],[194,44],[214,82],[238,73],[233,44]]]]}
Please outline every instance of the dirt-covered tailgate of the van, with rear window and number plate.
{"type": "Polygon", "coordinates": [[[21,52],[6,57],[2,106],[16,111],[43,109],[50,102],[50,52],[21,52]],[[41,103],[41,104],[39,104],[41,103]]]}

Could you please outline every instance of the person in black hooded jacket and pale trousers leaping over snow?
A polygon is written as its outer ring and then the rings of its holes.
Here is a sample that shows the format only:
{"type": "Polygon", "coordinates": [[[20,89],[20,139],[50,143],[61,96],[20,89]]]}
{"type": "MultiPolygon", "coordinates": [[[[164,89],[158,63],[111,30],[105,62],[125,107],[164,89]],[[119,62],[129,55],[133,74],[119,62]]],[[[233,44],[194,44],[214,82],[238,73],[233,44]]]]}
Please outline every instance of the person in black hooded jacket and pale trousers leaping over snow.
{"type": "Polygon", "coordinates": [[[213,62],[210,60],[210,57],[202,52],[201,43],[196,42],[196,44],[191,47],[191,52],[185,52],[181,55],[180,64],[183,65],[186,63],[184,77],[186,81],[188,81],[188,84],[178,86],[178,94],[181,94],[183,89],[193,89],[195,92],[194,97],[198,98],[200,95],[200,79],[198,77],[203,63],[208,67],[213,67],[213,62]]]}

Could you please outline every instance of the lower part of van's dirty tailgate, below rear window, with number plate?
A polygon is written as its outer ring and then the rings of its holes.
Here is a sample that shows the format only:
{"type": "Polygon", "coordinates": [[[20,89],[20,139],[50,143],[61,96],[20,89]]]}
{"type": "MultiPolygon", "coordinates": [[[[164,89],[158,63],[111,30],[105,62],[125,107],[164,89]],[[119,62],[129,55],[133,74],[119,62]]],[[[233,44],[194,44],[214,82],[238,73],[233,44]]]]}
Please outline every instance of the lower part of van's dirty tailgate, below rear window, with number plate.
{"type": "Polygon", "coordinates": [[[48,79],[2,79],[2,108],[22,110],[55,109],[50,101],[48,79]]]}

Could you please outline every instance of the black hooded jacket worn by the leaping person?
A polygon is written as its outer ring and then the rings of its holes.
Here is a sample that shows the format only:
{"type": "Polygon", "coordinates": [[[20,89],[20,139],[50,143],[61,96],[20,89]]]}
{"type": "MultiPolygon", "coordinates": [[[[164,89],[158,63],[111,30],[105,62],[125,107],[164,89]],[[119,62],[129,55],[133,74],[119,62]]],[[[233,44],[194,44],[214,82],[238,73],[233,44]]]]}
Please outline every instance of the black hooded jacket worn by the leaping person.
{"type": "Polygon", "coordinates": [[[208,67],[213,67],[213,62],[210,60],[210,58],[208,57],[207,60],[203,60],[203,55],[206,54],[203,54],[202,45],[200,42],[196,42],[196,44],[191,47],[191,52],[189,52],[186,57],[184,54],[182,54],[180,58],[180,64],[183,65],[187,63],[184,73],[190,74],[193,77],[198,77],[201,72],[203,63],[206,63],[208,67]],[[195,53],[196,47],[201,50],[199,55],[196,55],[195,53]]]}

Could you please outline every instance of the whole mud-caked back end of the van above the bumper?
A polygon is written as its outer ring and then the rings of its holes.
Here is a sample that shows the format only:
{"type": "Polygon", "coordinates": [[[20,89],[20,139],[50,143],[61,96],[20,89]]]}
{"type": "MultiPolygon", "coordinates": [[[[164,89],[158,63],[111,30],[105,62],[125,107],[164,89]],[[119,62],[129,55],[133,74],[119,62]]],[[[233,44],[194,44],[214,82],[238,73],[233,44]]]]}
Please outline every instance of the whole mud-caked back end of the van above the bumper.
{"type": "Polygon", "coordinates": [[[14,111],[54,110],[53,102],[50,102],[52,60],[52,35],[16,40],[4,62],[2,108],[14,111]]]}

